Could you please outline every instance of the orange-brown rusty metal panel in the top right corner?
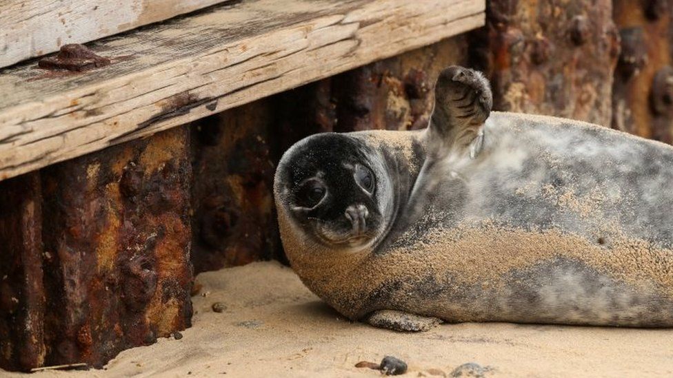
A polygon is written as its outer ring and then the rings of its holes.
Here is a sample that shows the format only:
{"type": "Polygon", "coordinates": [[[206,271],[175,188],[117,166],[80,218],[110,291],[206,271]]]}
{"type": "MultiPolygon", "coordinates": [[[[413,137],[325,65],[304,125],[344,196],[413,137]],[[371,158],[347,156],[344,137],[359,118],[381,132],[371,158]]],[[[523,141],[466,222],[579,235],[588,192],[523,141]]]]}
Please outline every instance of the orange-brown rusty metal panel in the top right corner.
{"type": "Polygon", "coordinates": [[[614,1],[621,55],[612,91],[612,127],[673,142],[673,1],[614,1]]]}

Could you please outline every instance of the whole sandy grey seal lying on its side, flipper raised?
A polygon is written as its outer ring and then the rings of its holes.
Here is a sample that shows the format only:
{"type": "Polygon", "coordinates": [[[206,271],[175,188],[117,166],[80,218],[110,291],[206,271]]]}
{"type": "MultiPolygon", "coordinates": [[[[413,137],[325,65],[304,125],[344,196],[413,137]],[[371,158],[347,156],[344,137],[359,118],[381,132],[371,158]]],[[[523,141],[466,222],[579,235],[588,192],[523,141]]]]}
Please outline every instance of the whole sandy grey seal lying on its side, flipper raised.
{"type": "Polygon", "coordinates": [[[491,112],[449,67],[416,132],[317,134],[277,167],[285,253],[337,311],[440,322],[673,326],[673,148],[491,112]]]}

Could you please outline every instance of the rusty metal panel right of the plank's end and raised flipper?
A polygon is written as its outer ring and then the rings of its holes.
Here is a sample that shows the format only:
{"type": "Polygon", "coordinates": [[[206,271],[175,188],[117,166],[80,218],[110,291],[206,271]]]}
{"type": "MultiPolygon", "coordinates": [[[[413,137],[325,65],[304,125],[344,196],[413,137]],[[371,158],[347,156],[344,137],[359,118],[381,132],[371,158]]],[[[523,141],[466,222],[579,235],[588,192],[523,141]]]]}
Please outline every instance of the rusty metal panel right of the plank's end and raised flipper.
{"type": "Polygon", "coordinates": [[[619,35],[610,0],[491,0],[471,38],[494,109],[610,125],[619,35]]]}

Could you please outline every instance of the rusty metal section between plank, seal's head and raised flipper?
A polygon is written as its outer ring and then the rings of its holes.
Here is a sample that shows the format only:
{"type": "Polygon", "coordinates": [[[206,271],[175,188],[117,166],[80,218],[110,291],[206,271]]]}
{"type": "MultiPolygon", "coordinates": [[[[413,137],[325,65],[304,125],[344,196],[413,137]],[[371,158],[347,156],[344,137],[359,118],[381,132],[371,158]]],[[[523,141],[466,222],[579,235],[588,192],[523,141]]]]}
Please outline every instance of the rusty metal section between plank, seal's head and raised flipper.
{"type": "Polygon", "coordinates": [[[456,36],[280,94],[281,150],[317,132],[422,129],[432,83],[443,67],[463,63],[466,50],[456,36]]]}

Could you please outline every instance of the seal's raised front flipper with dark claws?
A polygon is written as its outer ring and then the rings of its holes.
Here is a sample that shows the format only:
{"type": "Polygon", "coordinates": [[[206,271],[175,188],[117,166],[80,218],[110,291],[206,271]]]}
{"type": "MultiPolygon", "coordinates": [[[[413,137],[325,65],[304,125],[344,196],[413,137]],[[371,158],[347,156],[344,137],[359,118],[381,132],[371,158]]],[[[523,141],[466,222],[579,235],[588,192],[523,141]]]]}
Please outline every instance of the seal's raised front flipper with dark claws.
{"type": "Polygon", "coordinates": [[[481,72],[452,65],[439,74],[428,134],[435,152],[468,151],[476,157],[483,145],[483,124],[493,105],[488,80],[481,72]]]}

